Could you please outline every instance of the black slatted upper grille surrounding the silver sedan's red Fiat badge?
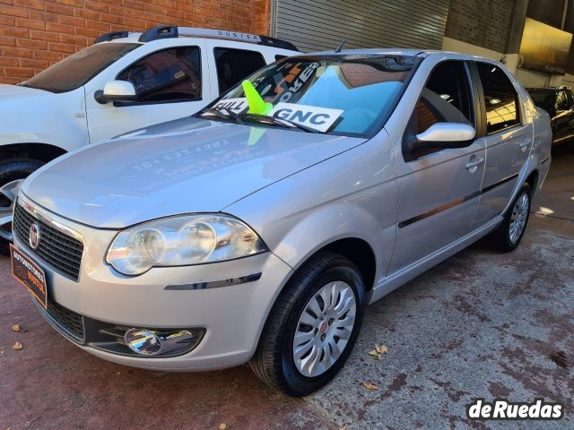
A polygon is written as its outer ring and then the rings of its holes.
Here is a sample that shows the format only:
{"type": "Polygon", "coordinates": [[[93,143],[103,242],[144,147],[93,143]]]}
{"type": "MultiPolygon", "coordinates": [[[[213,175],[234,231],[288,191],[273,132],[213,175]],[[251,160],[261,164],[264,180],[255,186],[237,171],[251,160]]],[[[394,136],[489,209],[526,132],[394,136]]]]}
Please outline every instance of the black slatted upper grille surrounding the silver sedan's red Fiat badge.
{"type": "Polygon", "coordinates": [[[61,275],[77,281],[82,263],[82,242],[73,236],[66,235],[57,228],[51,227],[40,219],[36,219],[20,204],[16,204],[13,231],[22,241],[22,245],[29,248],[30,226],[33,222],[39,225],[41,234],[38,249],[30,251],[37,254],[39,258],[47,262],[61,275]]]}

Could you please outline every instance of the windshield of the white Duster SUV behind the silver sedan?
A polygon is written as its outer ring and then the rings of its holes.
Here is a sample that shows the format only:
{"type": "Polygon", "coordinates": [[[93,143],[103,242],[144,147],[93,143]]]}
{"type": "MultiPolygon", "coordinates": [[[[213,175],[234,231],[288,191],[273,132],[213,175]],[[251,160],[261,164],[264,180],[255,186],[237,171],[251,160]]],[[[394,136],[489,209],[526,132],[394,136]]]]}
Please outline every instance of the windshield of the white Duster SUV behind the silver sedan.
{"type": "Polygon", "coordinates": [[[141,46],[138,43],[99,43],[64,58],[20,85],[24,87],[66,92],[81,87],[109,64],[141,46]]]}

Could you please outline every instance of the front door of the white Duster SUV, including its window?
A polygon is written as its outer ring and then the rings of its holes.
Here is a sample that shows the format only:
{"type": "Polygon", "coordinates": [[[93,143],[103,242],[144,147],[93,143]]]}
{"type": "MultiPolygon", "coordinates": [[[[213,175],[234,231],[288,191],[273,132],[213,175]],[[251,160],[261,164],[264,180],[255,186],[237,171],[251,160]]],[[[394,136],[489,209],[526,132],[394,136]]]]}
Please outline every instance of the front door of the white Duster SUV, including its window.
{"type": "Polygon", "coordinates": [[[213,99],[207,56],[204,39],[187,45],[180,42],[147,53],[122,70],[103,73],[101,79],[86,84],[90,142],[195,114],[213,99]],[[96,101],[94,93],[113,80],[132,82],[138,100],[96,101]]]}

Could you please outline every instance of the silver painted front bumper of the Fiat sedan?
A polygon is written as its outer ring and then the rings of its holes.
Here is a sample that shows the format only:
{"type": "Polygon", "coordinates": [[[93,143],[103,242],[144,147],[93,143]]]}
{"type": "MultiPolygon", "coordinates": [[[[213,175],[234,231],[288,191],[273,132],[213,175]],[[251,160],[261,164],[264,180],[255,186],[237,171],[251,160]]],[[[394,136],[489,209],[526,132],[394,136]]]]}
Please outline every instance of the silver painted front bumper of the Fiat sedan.
{"type": "MultiPolygon", "coordinates": [[[[238,366],[257,348],[267,314],[291,276],[291,267],[272,253],[230,262],[187,267],[155,268],[141,276],[126,277],[105,262],[105,254],[116,231],[98,229],[63,219],[27,202],[43,215],[71,228],[83,237],[84,253],[78,281],[59,274],[32,252],[20,237],[14,238],[24,254],[45,271],[48,298],[57,305],[102,325],[153,329],[205,329],[203,339],[191,352],[178,357],[134,357],[110,353],[90,346],[86,339],[70,336],[45,312],[48,323],[67,339],[91,354],[128,366],[164,371],[194,371],[238,366]],[[196,283],[238,279],[261,273],[236,285],[188,289],[196,283]],[[170,286],[170,289],[165,289],[170,286]],[[183,286],[181,289],[172,289],[183,286]],[[187,289],[186,289],[187,288],[187,289]]],[[[232,283],[231,283],[232,284],[232,283]]]]}

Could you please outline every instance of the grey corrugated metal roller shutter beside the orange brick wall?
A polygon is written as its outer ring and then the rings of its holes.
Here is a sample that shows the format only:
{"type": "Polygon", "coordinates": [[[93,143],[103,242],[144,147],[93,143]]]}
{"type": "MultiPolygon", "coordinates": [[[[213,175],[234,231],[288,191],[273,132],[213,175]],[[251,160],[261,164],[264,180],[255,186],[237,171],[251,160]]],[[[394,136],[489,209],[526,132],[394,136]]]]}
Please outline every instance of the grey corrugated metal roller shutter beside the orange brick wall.
{"type": "Polygon", "coordinates": [[[274,0],[274,36],[302,51],[350,47],[440,49],[450,0],[274,0]]]}

